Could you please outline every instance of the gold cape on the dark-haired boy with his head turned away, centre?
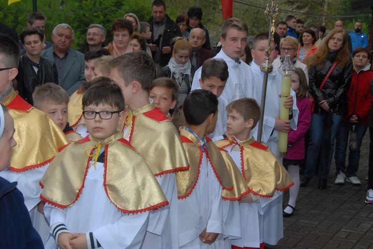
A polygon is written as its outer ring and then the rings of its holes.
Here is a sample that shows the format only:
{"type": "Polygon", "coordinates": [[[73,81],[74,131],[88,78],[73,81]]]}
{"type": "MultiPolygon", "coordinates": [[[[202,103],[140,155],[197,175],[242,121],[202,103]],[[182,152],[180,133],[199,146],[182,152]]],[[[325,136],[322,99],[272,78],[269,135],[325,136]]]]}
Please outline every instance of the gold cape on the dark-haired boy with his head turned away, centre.
{"type": "MultiPolygon", "coordinates": [[[[202,150],[200,149],[200,141],[197,137],[185,129],[180,129],[180,137],[183,142],[185,152],[189,161],[189,170],[176,172],[176,185],[178,188],[178,198],[183,199],[191,194],[198,181],[199,167],[202,160],[202,150]]],[[[229,171],[225,165],[223,156],[219,148],[216,147],[211,139],[206,137],[206,147],[208,158],[215,176],[223,189],[228,191],[233,190],[233,183],[229,177],[229,171]]]]}

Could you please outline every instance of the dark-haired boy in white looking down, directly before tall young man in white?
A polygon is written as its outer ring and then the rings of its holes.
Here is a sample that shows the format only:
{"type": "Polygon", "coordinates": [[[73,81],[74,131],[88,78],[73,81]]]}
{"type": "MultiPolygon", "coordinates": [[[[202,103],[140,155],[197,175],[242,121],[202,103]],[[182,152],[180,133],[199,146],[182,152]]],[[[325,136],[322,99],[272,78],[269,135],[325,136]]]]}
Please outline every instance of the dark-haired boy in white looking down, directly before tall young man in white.
{"type": "Polygon", "coordinates": [[[210,138],[223,135],[225,132],[225,121],[227,120],[225,107],[228,103],[221,97],[221,94],[228,80],[228,76],[228,65],[223,60],[208,59],[203,62],[201,78],[199,79],[200,88],[211,91],[216,95],[219,101],[217,122],[215,130],[211,134],[208,134],[210,138]]]}

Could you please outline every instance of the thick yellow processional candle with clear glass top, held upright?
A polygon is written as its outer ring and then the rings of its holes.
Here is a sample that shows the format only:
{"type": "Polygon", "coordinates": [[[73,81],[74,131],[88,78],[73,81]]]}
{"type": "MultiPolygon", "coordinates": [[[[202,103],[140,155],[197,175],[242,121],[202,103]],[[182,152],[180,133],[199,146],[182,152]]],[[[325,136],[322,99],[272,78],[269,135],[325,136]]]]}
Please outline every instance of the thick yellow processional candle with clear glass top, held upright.
{"type": "MultiPolygon", "coordinates": [[[[295,68],[290,62],[289,55],[285,56],[285,60],[280,66],[279,72],[282,75],[280,120],[289,120],[289,109],[283,106],[283,102],[290,96],[291,75],[295,72],[295,68]]],[[[279,131],[279,157],[282,158],[286,157],[287,134],[287,132],[279,131]]]]}

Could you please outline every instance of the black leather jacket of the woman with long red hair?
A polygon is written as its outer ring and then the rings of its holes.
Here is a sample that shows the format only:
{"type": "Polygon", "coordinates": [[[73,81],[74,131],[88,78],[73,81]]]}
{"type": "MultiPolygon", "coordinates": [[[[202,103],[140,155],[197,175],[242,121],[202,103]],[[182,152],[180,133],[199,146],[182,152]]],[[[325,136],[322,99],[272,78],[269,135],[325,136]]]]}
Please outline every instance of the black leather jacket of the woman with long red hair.
{"type": "Polygon", "coordinates": [[[326,80],[324,87],[321,90],[319,89],[335,60],[336,58],[329,54],[326,58],[324,68],[321,69],[319,66],[315,67],[312,64],[309,67],[309,92],[315,100],[314,113],[326,114],[324,109],[319,105],[319,102],[322,100],[326,100],[330,109],[333,109],[333,115],[345,115],[348,112],[346,94],[350,88],[353,74],[351,60],[346,62],[343,68],[337,64],[326,80]]]}

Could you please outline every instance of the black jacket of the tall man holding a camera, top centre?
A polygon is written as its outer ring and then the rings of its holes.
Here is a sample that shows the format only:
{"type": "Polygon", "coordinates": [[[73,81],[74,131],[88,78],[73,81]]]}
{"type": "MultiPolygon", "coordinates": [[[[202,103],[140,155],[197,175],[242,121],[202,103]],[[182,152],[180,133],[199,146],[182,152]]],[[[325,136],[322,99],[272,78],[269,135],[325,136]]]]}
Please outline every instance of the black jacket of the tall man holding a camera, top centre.
{"type": "MultiPolygon", "coordinates": [[[[153,36],[153,31],[154,31],[154,22],[153,22],[153,16],[149,18],[148,23],[150,25],[150,30],[152,31],[152,37],[150,38],[150,41],[148,43],[152,43],[154,40],[157,39],[157,37],[154,38],[153,36]]],[[[172,50],[170,54],[163,54],[162,53],[162,48],[164,47],[171,47],[171,49],[174,49],[174,44],[172,42],[172,39],[174,39],[177,36],[182,36],[182,33],[180,32],[180,27],[179,25],[171,20],[171,18],[166,14],[166,25],[165,29],[163,31],[162,35],[162,44],[160,47],[161,50],[161,58],[159,61],[159,64],[161,66],[165,66],[169,63],[171,57],[172,57],[172,50]]],[[[156,52],[152,52],[153,59],[155,57],[156,52]]]]}

